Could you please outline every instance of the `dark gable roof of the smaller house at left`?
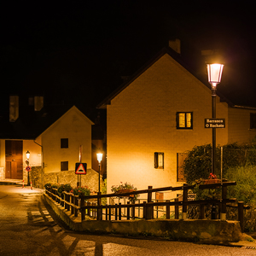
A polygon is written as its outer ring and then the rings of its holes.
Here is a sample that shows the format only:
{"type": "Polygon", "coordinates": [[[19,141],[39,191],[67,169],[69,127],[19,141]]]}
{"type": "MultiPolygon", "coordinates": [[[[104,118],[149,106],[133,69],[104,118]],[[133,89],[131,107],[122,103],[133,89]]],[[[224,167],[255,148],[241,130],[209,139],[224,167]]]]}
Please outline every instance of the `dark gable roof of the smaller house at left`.
{"type": "MultiPolygon", "coordinates": [[[[0,125],[0,139],[23,139],[35,140],[58,119],[75,108],[76,111],[83,114],[76,106],[54,106],[44,107],[38,112],[22,112],[20,109],[19,118],[15,122],[9,122],[9,119],[1,119],[0,125]]],[[[85,119],[94,125],[94,123],[84,115],[85,119]]]]}

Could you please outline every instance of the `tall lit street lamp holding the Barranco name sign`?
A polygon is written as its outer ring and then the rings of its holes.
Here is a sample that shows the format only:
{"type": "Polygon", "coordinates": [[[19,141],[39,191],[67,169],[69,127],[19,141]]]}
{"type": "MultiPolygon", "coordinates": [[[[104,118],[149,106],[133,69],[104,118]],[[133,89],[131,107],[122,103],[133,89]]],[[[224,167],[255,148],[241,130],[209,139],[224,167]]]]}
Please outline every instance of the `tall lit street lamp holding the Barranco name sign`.
{"type": "MultiPolygon", "coordinates": [[[[223,64],[207,64],[208,82],[212,85],[212,119],[216,118],[216,90],[217,84],[220,83],[223,64]]],[[[216,170],[216,128],[212,128],[212,174],[215,174],[216,170]]]]}

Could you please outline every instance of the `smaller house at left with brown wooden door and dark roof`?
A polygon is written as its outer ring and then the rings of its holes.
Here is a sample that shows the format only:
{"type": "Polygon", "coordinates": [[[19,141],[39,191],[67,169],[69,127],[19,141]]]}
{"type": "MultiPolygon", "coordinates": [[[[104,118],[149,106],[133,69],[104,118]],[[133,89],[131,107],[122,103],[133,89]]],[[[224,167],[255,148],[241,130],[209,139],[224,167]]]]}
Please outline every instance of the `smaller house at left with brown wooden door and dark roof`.
{"type": "Polygon", "coordinates": [[[82,185],[97,190],[98,173],[91,168],[93,122],[75,106],[36,109],[35,103],[34,109],[21,111],[19,105],[19,97],[10,96],[9,122],[2,122],[0,128],[0,179],[20,179],[26,183],[29,151],[33,186],[43,188],[47,182],[75,186],[75,164],[81,151],[81,160],[87,164],[82,185]]]}

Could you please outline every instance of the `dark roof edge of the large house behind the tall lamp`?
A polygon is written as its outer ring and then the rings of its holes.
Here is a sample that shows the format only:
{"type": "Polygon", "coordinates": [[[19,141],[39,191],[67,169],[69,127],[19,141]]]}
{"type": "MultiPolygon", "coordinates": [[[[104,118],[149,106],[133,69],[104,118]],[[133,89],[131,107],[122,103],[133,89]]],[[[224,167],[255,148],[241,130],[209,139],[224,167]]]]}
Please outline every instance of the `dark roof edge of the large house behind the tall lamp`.
{"type": "MultiPolygon", "coordinates": [[[[127,79],[123,84],[121,84],[116,90],[113,90],[113,92],[107,96],[102,102],[100,102],[96,108],[104,109],[107,108],[107,105],[111,104],[111,101],[113,98],[122,90],[125,90],[126,87],[128,87],[135,79],[137,79],[139,76],[141,76],[149,67],[151,67],[156,61],[160,60],[160,58],[163,55],[170,55],[174,61],[177,61],[181,66],[183,66],[186,70],[189,71],[193,76],[195,76],[196,79],[200,80],[202,84],[205,84],[209,90],[211,90],[211,85],[207,81],[207,75],[199,75],[198,73],[195,73],[195,70],[193,68],[189,67],[189,65],[183,60],[181,55],[177,54],[176,51],[174,51],[171,48],[163,48],[158,52],[154,57],[148,61],[141,69],[137,71],[137,73],[134,73],[129,79],[127,79]]],[[[217,90],[217,95],[220,97],[221,102],[227,102],[230,107],[236,107],[236,108],[247,108],[247,107],[241,107],[236,106],[233,102],[230,101],[226,96],[224,96],[219,90],[217,90]]]]}

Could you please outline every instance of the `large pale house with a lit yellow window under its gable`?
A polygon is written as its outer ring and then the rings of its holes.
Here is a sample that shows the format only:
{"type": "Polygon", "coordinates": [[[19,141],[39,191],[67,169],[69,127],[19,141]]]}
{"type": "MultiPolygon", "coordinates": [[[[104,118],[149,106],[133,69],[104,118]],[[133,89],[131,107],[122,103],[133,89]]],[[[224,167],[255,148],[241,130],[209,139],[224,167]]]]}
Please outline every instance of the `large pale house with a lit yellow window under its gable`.
{"type": "MultiPolygon", "coordinates": [[[[212,143],[212,129],[204,126],[212,117],[210,84],[189,72],[172,49],[161,50],[98,108],[107,108],[108,193],[120,182],[137,189],[180,185],[183,153],[212,143]]],[[[217,145],[255,137],[255,117],[256,108],[238,107],[217,96],[217,118],[226,124],[216,129],[217,145]]]]}

